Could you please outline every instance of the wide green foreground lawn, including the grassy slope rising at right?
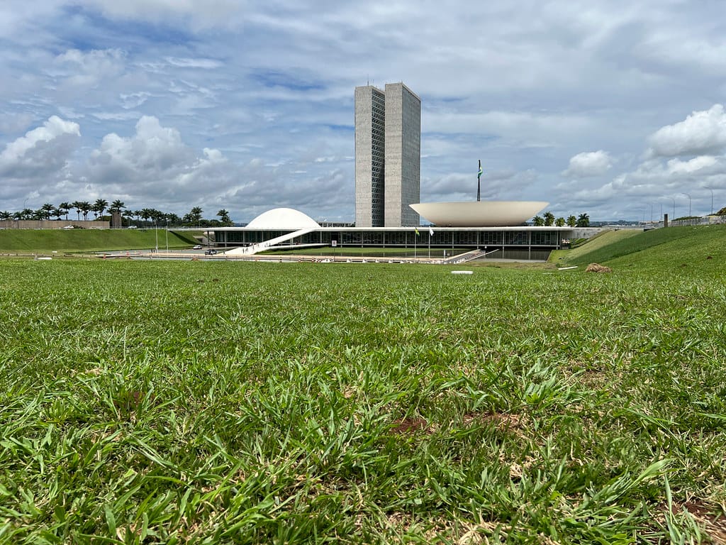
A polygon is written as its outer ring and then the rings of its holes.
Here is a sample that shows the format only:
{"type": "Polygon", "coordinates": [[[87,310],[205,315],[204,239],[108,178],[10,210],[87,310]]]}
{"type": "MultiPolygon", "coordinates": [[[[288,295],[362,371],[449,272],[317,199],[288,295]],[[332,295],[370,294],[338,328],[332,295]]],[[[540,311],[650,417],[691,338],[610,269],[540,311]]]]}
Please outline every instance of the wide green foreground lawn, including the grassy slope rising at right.
{"type": "Polygon", "coordinates": [[[0,542],[722,543],[725,231],[680,229],[610,274],[0,260],[0,542]]]}

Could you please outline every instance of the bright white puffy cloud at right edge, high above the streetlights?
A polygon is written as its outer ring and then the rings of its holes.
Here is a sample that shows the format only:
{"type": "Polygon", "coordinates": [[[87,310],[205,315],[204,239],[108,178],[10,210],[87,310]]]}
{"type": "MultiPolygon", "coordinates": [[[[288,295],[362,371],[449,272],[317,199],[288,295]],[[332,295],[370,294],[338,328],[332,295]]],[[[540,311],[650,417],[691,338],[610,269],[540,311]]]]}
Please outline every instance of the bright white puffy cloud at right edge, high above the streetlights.
{"type": "Polygon", "coordinates": [[[661,157],[703,155],[726,148],[726,113],[721,104],[693,112],[684,121],[658,129],[650,154],[661,157]]]}

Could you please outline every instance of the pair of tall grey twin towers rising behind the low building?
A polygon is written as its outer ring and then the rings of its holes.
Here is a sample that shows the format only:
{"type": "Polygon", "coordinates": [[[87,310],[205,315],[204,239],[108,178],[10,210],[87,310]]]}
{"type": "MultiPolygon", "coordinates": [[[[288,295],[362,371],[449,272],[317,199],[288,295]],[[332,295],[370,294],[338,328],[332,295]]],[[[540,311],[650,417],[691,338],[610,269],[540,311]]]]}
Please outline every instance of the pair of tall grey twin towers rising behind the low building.
{"type": "Polygon", "coordinates": [[[356,227],[415,227],[421,100],[404,84],[356,87],[356,227]]]}

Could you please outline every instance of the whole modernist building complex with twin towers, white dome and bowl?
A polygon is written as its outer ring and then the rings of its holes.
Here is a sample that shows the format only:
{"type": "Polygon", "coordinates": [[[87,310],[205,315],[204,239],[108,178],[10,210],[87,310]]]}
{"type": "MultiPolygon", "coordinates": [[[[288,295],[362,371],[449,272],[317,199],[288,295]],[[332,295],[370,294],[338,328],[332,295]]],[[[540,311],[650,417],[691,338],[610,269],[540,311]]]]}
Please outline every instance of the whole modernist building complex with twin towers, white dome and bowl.
{"type": "Polygon", "coordinates": [[[449,259],[477,259],[479,255],[508,259],[547,259],[560,248],[563,238],[579,238],[568,227],[524,225],[533,211],[518,211],[499,217],[503,211],[518,210],[535,201],[490,201],[463,203],[420,203],[421,100],[402,83],[355,88],[355,225],[322,226],[301,211],[272,209],[253,219],[247,227],[214,227],[216,246],[225,256],[253,255],[270,249],[294,251],[305,246],[339,248],[392,248],[412,250],[427,256],[438,251],[449,259]],[[420,232],[419,212],[409,205],[428,210],[422,216],[431,222],[436,211],[456,205],[460,217],[434,219],[434,227],[420,232]],[[489,207],[489,208],[486,208],[489,207]],[[473,208],[470,214],[469,209],[473,208]],[[486,211],[486,218],[483,216],[486,211]],[[473,217],[468,217],[472,215],[473,217]],[[517,214],[514,214],[515,216],[517,214]],[[484,219],[489,226],[484,225],[484,219]],[[461,257],[463,256],[463,257],[461,257]]]}

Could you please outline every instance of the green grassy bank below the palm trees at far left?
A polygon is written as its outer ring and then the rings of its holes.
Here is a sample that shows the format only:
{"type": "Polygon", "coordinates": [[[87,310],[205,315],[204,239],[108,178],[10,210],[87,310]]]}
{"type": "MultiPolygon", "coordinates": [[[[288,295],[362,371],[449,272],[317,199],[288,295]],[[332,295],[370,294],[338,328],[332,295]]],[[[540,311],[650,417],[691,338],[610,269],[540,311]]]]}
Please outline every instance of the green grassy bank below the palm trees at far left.
{"type": "MultiPolygon", "coordinates": [[[[159,247],[166,247],[163,230],[50,229],[0,230],[0,254],[49,254],[57,251],[103,251],[154,248],[158,234],[159,247]]],[[[189,232],[169,231],[170,248],[185,248],[196,241],[189,232]]]]}

